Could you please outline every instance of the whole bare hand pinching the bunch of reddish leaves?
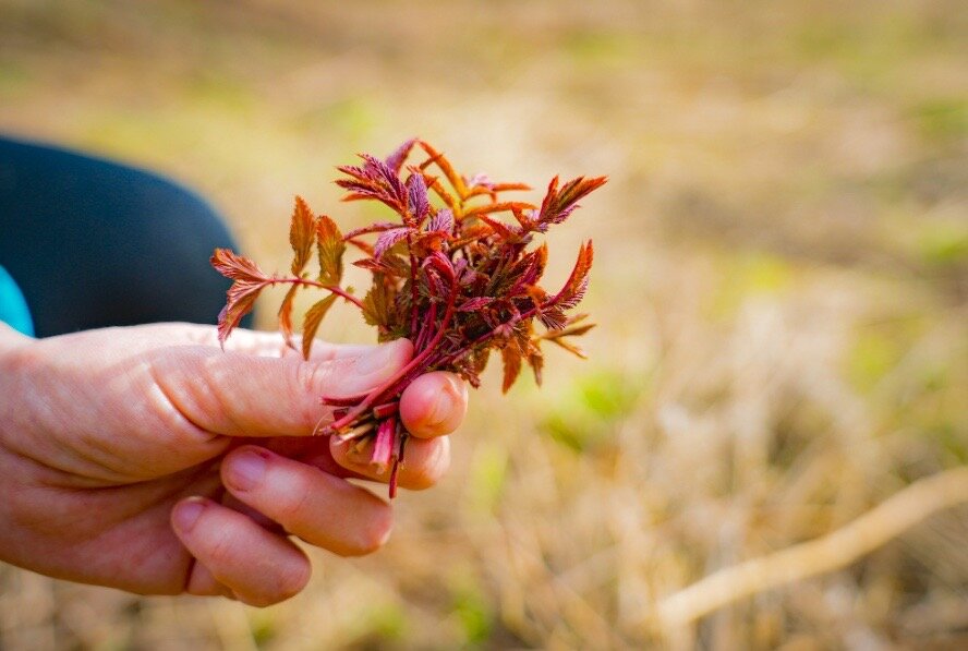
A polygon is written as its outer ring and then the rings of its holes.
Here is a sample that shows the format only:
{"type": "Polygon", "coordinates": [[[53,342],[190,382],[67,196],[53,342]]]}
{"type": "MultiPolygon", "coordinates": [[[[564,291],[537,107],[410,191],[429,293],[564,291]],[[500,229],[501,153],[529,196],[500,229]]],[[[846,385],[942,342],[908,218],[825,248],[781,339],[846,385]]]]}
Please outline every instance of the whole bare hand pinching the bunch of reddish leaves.
{"type": "MultiPolygon", "coordinates": [[[[277,335],[157,324],[29,339],[0,324],[0,560],[141,594],[268,605],[302,590],[293,539],[342,556],[386,542],[391,506],[366,450],[314,436],[320,395],[374,388],[412,357],[277,335]]],[[[446,471],[467,388],[428,373],[401,398],[399,483],[446,471]]]]}

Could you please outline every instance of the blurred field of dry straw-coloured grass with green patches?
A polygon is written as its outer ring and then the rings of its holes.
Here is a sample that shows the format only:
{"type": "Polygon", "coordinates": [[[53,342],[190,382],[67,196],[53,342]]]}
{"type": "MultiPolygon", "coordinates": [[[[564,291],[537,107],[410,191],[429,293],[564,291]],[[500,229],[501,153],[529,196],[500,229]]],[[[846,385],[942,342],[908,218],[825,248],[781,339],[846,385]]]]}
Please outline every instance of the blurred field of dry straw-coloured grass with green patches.
{"type": "Polygon", "coordinates": [[[590,360],[491,369],[382,552],[266,610],[0,566],[0,649],[965,648],[966,43],[958,0],[0,0],[0,130],[194,186],[266,268],[412,135],[612,179],[552,237],[553,286],[595,240],[590,360]]]}

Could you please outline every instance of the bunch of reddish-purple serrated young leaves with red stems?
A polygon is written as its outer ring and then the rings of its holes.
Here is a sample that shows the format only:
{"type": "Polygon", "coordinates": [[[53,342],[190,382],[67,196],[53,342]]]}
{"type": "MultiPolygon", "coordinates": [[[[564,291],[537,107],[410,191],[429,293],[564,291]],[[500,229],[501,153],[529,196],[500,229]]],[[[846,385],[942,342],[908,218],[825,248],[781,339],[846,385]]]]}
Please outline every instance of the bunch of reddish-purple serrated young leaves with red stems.
{"type": "Polygon", "coordinates": [[[359,165],[338,168],[342,177],[336,183],[347,191],[344,201],[379,202],[390,209],[392,220],[341,233],[329,217],[315,215],[297,197],[289,232],[290,274],[267,275],[245,257],[216,250],[211,264],[233,280],[219,315],[219,338],[225,341],[263,289],[288,284],[279,310],[287,341],[293,330],[297,292],[305,288],[326,292],[303,317],[306,358],[338,298],[360,309],[366,323],[377,328],[379,340],[411,339],[413,359],[384,386],[350,399],[323,397],[336,408],[336,420],[324,433],[373,439],[373,462],[396,470],[407,438],[396,417],[396,401],[420,374],[451,371],[476,387],[491,352],[497,350],[507,391],[524,365],[541,383],[545,341],[584,357],[572,339],[594,326],[584,322],[585,315],[571,312],[588,289],[592,242],[579,249],[565,285],[548,291],[540,285],[548,249],[534,240],[567,220],[578,202],[606,179],[579,177],[562,184],[556,177],[535,205],[505,198],[530,190],[528,185],[459,174],[443,153],[421,140],[404,142],[383,159],[368,154],[360,158],[359,165]],[[408,165],[411,158],[418,162],[408,165]],[[361,254],[352,264],[372,277],[362,300],[340,286],[348,245],[361,254]],[[306,267],[314,249],[318,273],[311,275],[306,267]]]}

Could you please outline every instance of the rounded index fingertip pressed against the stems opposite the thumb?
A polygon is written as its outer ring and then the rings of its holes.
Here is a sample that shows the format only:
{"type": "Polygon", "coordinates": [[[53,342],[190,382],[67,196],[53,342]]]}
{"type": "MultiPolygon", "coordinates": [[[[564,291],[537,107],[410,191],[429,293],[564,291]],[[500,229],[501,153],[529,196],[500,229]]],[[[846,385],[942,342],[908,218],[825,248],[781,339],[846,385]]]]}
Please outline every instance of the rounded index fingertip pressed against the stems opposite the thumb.
{"type": "Polygon", "coordinates": [[[443,371],[421,375],[403,389],[400,397],[403,425],[420,438],[450,434],[463,421],[467,411],[467,383],[443,371]]]}

